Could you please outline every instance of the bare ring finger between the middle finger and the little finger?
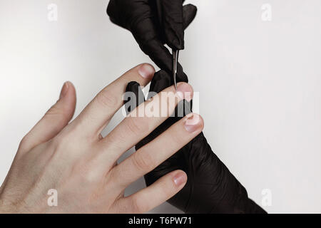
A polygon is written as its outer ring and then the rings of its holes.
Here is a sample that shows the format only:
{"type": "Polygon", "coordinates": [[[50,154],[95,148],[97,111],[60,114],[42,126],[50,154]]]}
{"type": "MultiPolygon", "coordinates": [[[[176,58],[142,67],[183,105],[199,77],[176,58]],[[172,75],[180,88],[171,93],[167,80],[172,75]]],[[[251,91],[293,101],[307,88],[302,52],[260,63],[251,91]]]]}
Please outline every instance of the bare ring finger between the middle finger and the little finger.
{"type": "Polygon", "coordinates": [[[119,187],[119,190],[125,189],[193,140],[203,130],[203,126],[200,115],[193,113],[186,115],[155,140],[114,167],[111,170],[112,182],[119,187]]]}

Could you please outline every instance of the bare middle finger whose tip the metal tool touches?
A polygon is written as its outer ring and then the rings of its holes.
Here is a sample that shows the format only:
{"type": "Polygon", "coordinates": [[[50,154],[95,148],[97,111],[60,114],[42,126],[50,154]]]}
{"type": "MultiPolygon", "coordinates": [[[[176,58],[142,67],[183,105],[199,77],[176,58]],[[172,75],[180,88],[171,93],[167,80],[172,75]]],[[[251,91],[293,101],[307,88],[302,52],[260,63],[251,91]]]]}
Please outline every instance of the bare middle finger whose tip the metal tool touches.
{"type": "Polygon", "coordinates": [[[101,140],[103,150],[115,151],[113,155],[103,153],[103,156],[108,156],[108,160],[111,161],[118,160],[123,152],[161,125],[173,113],[180,100],[189,101],[192,97],[193,88],[188,83],[178,83],[177,91],[174,86],[171,86],[139,105],[105,139],[101,140]],[[148,116],[151,107],[153,107],[153,116],[148,116]],[[142,117],[140,117],[141,114],[143,114],[142,117]]]}

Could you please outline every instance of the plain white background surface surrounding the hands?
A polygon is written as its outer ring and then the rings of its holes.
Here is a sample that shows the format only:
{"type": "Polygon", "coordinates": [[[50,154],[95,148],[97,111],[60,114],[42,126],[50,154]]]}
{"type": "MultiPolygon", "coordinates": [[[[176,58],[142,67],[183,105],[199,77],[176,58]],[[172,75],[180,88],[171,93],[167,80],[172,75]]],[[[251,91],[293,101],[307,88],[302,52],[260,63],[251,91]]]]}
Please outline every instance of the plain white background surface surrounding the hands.
{"type": "MultiPolygon", "coordinates": [[[[321,212],[321,1],[195,0],[180,62],[213,150],[268,212],[321,212]],[[272,6],[262,21],[261,6],[272,6]]],[[[0,0],[0,181],[21,138],[76,86],[76,115],[99,90],[149,62],[108,20],[108,1],[0,0]],[[58,21],[47,6],[58,6],[58,21]]],[[[111,126],[121,120],[117,115],[111,126]]],[[[137,182],[127,194],[143,187],[137,182]]],[[[153,212],[178,212],[168,204],[153,212]]]]}

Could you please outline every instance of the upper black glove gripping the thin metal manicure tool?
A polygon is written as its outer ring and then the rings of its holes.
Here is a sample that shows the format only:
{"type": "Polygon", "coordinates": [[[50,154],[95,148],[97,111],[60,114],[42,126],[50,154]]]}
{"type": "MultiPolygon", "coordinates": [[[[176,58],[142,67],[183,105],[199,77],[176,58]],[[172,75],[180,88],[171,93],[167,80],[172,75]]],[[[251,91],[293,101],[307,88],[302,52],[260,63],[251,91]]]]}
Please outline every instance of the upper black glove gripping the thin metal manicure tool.
{"type": "MultiPolygon", "coordinates": [[[[195,18],[197,8],[191,4],[183,6],[183,0],[161,0],[161,7],[156,1],[111,0],[107,14],[114,24],[131,31],[141,50],[170,73],[173,58],[164,43],[177,50],[184,48],[184,30],[195,18]]],[[[180,65],[177,80],[187,81],[180,65]]]]}

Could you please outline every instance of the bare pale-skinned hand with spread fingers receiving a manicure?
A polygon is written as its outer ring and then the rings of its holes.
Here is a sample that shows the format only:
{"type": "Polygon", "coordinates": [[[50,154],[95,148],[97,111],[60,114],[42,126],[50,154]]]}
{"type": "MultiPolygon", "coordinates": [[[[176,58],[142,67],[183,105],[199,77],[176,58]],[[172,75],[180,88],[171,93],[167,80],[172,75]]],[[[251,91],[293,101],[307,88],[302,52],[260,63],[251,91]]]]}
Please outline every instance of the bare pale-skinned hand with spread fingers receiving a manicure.
{"type": "MultiPolygon", "coordinates": [[[[11,169],[0,188],[0,213],[144,213],[179,192],[187,181],[185,172],[168,173],[150,187],[124,197],[132,182],[160,165],[203,130],[203,119],[188,121],[188,115],[158,138],[136,151],[123,162],[117,160],[145,138],[167,117],[128,115],[105,138],[106,128],[123,105],[127,83],[148,84],[154,68],[141,64],[106,86],[73,121],[76,90],[63,85],[59,100],[21,140],[11,169]],[[164,147],[164,145],[166,145],[164,147]],[[47,204],[48,191],[58,192],[58,206],[47,204]]],[[[180,101],[182,95],[172,86],[180,101]]],[[[193,94],[187,83],[178,91],[193,94]]],[[[148,100],[153,103],[154,100],[148,100]]],[[[166,104],[166,100],[162,101],[166,104]]],[[[177,103],[167,103],[174,110],[177,103]]],[[[138,106],[137,110],[144,108],[138,106]]],[[[135,110],[134,110],[135,111],[135,110]]]]}

